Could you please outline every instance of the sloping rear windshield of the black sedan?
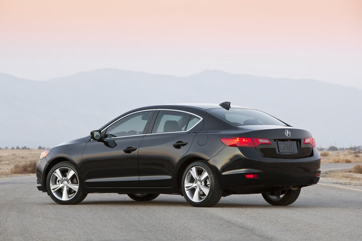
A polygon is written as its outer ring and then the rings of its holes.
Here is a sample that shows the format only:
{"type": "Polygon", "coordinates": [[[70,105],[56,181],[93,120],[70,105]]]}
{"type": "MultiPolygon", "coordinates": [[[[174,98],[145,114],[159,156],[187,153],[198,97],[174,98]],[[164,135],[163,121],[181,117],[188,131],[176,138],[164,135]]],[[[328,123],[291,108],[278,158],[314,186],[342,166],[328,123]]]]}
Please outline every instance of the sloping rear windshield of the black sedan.
{"type": "Polygon", "coordinates": [[[208,109],[210,113],[216,115],[219,118],[235,125],[235,126],[250,126],[250,125],[276,125],[287,126],[285,123],[279,121],[279,119],[268,115],[262,111],[256,109],[245,108],[230,108],[226,110],[224,108],[208,109]]]}

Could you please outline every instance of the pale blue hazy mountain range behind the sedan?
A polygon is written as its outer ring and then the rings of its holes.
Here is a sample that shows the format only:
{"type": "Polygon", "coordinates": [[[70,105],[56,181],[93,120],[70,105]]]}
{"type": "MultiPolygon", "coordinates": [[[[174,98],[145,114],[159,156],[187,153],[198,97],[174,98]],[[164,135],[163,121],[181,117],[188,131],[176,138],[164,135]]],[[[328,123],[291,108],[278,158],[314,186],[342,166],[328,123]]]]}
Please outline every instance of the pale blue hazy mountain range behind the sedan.
{"type": "Polygon", "coordinates": [[[319,147],[362,145],[362,90],[356,88],[218,70],[175,77],[96,69],[44,82],[0,74],[0,147],[51,147],[140,106],[223,101],[307,129],[319,147]]]}

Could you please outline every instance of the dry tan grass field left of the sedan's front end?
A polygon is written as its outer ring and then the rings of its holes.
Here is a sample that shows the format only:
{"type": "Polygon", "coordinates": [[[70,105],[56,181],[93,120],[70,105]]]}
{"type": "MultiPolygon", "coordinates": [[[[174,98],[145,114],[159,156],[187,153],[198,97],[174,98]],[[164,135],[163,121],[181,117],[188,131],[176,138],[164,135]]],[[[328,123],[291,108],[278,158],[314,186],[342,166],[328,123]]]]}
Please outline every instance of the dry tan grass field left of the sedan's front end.
{"type": "Polygon", "coordinates": [[[0,150],[0,176],[35,173],[35,165],[44,150],[0,150]]]}

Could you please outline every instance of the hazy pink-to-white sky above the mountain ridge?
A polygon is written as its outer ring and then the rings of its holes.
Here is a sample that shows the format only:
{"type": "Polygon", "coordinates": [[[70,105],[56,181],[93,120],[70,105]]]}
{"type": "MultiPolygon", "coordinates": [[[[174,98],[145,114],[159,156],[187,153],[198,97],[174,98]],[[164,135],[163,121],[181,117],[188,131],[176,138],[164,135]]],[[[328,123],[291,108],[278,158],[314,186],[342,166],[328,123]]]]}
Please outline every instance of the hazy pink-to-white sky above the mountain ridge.
{"type": "Polygon", "coordinates": [[[106,67],[362,89],[362,0],[0,0],[0,73],[44,80],[106,67]]]}

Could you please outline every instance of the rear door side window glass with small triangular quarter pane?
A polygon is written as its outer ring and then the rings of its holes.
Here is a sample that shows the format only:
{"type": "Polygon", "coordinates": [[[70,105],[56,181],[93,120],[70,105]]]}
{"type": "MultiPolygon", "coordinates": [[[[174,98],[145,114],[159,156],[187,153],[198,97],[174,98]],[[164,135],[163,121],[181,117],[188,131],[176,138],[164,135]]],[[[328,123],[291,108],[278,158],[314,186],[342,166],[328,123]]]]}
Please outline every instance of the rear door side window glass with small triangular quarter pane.
{"type": "Polygon", "coordinates": [[[188,131],[200,120],[194,115],[171,110],[159,111],[152,133],[188,131]]]}

